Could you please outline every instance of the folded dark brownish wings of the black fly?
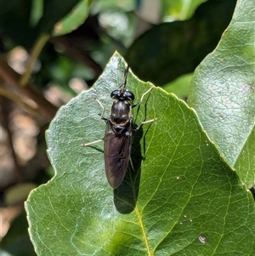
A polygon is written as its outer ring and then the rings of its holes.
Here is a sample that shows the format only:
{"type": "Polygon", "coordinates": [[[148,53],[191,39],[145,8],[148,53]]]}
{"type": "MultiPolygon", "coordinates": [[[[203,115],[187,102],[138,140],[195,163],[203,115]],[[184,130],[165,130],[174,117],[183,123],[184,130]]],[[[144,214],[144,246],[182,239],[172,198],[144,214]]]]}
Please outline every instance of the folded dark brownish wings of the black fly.
{"type": "Polygon", "coordinates": [[[127,172],[132,141],[132,128],[121,134],[115,134],[111,124],[107,123],[105,131],[105,173],[109,184],[116,189],[122,184],[127,172]]]}

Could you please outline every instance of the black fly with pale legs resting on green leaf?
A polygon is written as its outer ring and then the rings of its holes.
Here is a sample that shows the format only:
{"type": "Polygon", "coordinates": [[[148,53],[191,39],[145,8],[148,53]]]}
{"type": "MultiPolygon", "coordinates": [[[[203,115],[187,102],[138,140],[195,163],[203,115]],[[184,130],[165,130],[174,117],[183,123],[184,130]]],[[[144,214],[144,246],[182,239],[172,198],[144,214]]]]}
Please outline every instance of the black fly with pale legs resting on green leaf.
{"type": "MultiPolygon", "coordinates": [[[[109,184],[114,189],[122,184],[122,180],[127,172],[129,160],[133,168],[130,158],[132,130],[138,130],[144,123],[156,121],[156,118],[154,118],[141,122],[137,128],[133,128],[132,108],[139,105],[144,95],[149,93],[152,88],[142,95],[138,104],[132,105],[134,95],[126,89],[127,73],[128,66],[124,72],[124,82],[122,82],[121,87],[111,92],[111,98],[115,101],[111,106],[111,115],[109,118],[104,117],[104,106],[96,99],[103,109],[101,118],[106,122],[104,137],[105,173],[109,184]]],[[[92,145],[100,140],[83,144],[83,146],[92,145]]]]}

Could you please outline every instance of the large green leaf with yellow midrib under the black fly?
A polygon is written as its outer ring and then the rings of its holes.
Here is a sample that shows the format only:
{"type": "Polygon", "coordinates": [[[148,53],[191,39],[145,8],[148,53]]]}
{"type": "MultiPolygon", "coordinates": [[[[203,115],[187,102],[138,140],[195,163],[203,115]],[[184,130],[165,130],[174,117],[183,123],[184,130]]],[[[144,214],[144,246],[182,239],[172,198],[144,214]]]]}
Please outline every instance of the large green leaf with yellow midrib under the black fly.
{"type": "MultiPolygon", "coordinates": [[[[37,255],[215,255],[254,253],[252,195],[207,139],[194,111],[153,88],[133,108],[135,172],[112,190],[104,171],[101,107],[122,83],[124,60],[114,54],[94,87],[60,108],[47,132],[55,176],[26,202],[37,255]],[[201,240],[205,237],[206,242],[201,240]]],[[[131,71],[136,96],[151,87],[131,71]]]]}

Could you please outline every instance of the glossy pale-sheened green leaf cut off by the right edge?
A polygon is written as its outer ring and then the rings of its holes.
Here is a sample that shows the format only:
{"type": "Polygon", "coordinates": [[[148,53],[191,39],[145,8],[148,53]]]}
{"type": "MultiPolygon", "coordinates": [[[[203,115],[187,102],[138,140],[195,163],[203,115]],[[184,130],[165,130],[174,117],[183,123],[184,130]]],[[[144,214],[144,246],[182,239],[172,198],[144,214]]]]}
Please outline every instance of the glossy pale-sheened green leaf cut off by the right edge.
{"type": "Polygon", "coordinates": [[[255,185],[255,3],[239,1],[218,47],[196,69],[189,105],[246,187],[255,185]]]}

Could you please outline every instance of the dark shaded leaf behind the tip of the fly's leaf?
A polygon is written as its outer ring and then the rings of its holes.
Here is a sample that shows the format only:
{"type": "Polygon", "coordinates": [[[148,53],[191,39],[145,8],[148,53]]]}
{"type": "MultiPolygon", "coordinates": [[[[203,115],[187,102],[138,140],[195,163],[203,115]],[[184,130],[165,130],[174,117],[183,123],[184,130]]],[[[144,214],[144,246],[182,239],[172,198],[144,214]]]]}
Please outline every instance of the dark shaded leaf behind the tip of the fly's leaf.
{"type": "Polygon", "coordinates": [[[193,72],[217,46],[234,9],[233,0],[207,1],[190,20],[153,26],[128,48],[127,63],[137,76],[156,85],[193,72]]]}

